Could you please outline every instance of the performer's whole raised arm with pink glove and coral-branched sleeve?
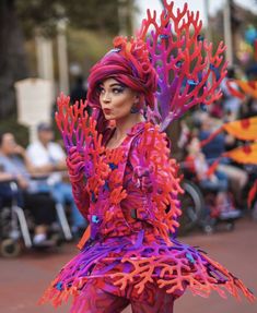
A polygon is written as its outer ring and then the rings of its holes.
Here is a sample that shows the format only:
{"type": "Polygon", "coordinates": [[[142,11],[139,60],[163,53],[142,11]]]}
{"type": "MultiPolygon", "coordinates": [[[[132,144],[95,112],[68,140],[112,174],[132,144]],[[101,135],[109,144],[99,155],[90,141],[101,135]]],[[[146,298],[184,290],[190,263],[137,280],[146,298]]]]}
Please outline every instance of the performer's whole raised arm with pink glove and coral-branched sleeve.
{"type": "Polygon", "coordinates": [[[86,112],[86,101],[70,106],[70,98],[61,94],[57,100],[56,122],[68,154],[67,166],[75,204],[87,218],[90,193],[103,183],[106,165],[103,161],[102,135],[96,121],[86,112]]]}

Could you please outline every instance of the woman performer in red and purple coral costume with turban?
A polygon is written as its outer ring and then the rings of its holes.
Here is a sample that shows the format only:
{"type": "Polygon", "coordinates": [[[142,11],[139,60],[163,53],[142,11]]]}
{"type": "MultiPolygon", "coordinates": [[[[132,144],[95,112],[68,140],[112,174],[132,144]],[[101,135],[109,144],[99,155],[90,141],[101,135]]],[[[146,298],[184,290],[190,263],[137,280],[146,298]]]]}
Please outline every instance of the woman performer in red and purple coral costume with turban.
{"type": "Polygon", "coordinates": [[[148,11],[135,38],[114,40],[91,70],[86,103],[58,99],[73,195],[90,226],[42,302],[59,305],[73,296],[72,313],[116,313],[128,304],[133,313],[172,313],[186,289],[222,297],[241,290],[254,300],[223,266],[175,238],[183,190],[163,131],[221,96],[226,64],[223,45],[213,52],[200,35],[198,13],[187,4],[176,14],[173,2],[164,8],[159,23],[148,11]]]}

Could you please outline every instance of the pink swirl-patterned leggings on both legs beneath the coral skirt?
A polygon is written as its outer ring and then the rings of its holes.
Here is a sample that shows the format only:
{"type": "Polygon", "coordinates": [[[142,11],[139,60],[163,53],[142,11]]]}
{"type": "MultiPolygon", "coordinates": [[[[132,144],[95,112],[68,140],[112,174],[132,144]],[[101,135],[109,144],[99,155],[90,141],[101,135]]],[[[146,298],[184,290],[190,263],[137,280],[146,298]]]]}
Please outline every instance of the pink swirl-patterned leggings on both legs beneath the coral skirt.
{"type": "Polygon", "coordinates": [[[173,313],[174,298],[163,289],[156,289],[153,305],[147,302],[131,301],[108,293],[92,284],[87,284],[82,294],[73,302],[71,313],[120,313],[131,304],[132,313],[173,313]]]}

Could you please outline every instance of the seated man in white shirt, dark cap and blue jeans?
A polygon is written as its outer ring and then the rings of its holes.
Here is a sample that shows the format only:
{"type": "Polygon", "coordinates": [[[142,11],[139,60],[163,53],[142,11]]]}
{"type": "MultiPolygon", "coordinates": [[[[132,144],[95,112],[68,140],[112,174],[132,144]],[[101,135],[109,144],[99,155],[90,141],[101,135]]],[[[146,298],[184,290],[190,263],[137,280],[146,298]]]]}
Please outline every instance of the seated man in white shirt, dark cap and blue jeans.
{"type": "Polygon", "coordinates": [[[42,184],[42,189],[50,191],[56,202],[71,204],[72,231],[80,236],[85,228],[85,220],[75,206],[70,183],[65,182],[58,172],[67,170],[66,154],[59,144],[52,142],[54,132],[49,124],[40,123],[37,135],[38,141],[27,147],[30,161],[37,171],[49,176],[47,184],[42,184]]]}

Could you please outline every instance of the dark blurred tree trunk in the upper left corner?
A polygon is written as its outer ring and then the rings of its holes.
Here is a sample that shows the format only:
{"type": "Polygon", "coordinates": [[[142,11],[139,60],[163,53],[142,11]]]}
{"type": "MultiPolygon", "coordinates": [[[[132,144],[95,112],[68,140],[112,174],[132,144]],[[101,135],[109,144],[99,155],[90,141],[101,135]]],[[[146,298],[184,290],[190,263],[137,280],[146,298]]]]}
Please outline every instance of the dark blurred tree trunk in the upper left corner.
{"type": "Polygon", "coordinates": [[[28,76],[15,0],[0,1],[0,119],[15,112],[14,82],[28,76]]]}

